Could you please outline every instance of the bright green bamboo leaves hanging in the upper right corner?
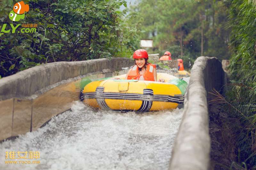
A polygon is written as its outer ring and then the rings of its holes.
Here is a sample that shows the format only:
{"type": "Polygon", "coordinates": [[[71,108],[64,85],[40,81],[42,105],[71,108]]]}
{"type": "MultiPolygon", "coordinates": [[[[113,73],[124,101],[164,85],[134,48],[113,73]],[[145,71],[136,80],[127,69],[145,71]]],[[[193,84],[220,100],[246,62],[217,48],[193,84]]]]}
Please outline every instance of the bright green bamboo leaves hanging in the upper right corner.
{"type": "MultiPolygon", "coordinates": [[[[232,28],[232,47],[235,55],[230,61],[232,78],[256,81],[256,8],[253,1],[227,1],[230,8],[229,25],[232,28]]],[[[256,84],[254,84],[256,85],[256,84]]]]}

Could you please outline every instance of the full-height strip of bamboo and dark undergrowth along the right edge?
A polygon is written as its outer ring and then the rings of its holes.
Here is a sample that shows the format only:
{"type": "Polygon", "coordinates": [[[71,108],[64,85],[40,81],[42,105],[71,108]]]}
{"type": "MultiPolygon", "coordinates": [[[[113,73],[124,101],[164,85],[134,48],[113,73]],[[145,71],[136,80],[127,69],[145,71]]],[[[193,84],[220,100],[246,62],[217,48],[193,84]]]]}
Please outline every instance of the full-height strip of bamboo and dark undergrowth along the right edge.
{"type": "Polygon", "coordinates": [[[230,11],[228,26],[232,28],[230,60],[231,84],[224,107],[237,122],[229,126],[235,131],[234,160],[244,169],[256,169],[256,2],[227,0],[230,11]]]}

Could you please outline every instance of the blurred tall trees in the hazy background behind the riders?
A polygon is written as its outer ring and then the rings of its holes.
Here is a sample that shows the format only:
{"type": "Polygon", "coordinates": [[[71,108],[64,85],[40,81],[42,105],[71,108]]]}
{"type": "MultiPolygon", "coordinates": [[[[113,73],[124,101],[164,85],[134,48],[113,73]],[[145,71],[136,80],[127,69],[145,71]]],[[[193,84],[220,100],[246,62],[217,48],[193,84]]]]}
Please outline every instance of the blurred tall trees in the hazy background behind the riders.
{"type": "Polygon", "coordinates": [[[174,59],[184,60],[185,68],[198,56],[221,60],[231,55],[228,10],[222,1],[141,0],[131,11],[138,13],[134,22],[143,18],[140,38],[154,41],[150,53],[168,50],[174,59]]]}

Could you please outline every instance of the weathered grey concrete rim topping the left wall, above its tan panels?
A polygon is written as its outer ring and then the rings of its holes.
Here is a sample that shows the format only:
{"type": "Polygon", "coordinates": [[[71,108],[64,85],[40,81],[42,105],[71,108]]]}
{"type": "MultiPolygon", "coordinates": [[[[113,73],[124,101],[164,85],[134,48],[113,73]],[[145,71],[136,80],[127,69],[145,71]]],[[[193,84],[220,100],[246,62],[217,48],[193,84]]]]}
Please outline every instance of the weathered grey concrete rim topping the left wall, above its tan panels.
{"type": "Polygon", "coordinates": [[[102,58],[42,64],[0,80],[0,100],[26,97],[49,85],[88,73],[113,72],[134,63],[128,58],[102,58]]]}

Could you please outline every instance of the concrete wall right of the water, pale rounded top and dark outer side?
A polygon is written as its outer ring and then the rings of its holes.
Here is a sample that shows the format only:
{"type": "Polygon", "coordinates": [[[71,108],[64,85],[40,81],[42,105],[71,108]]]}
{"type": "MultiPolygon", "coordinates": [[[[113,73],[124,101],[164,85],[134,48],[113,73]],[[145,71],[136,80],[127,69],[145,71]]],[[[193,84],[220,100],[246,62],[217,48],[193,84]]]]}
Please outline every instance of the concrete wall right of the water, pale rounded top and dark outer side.
{"type": "Polygon", "coordinates": [[[215,57],[198,57],[192,67],[185,94],[184,112],[175,139],[169,169],[206,170],[210,163],[207,100],[213,88],[222,90],[225,73],[215,57]]]}

